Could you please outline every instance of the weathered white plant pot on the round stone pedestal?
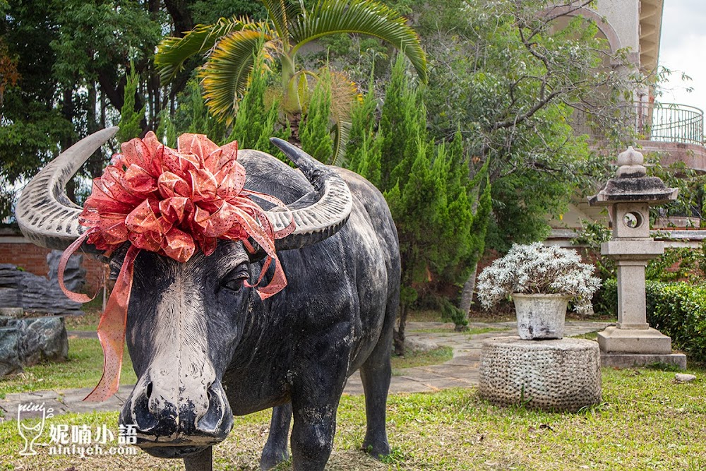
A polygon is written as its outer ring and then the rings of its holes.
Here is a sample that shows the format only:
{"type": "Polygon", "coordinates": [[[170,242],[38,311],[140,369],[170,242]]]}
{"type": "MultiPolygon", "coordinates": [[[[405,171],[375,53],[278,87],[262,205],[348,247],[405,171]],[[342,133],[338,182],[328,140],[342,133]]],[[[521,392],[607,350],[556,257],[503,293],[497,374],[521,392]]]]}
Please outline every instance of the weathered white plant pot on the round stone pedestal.
{"type": "Polygon", "coordinates": [[[568,296],[514,293],[513,301],[522,340],[563,338],[568,296]]]}

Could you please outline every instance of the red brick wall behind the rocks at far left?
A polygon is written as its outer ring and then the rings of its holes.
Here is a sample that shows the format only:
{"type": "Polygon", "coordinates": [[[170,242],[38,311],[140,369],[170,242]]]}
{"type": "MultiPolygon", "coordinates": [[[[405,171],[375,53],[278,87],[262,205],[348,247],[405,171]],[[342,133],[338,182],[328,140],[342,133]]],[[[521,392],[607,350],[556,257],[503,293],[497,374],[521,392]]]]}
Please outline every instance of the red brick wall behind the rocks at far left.
{"type": "MultiPolygon", "coordinates": [[[[49,249],[38,247],[28,242],[20,242],[19,237],[0,237],[0,263],[12,263],[35,275],[47,276],[47,254],[49,249]]],[[[88,292],[94,293],[100,287],[103,264],[89,256],[83,256],[83,268],[86,269],[88,292]]]]}

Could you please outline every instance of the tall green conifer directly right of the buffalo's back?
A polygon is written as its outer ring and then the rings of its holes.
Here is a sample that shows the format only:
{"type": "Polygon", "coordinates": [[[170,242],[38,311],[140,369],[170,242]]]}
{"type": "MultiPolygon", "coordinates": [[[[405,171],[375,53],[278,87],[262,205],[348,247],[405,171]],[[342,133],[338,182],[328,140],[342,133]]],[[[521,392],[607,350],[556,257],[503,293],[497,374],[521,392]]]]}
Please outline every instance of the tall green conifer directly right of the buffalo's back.
{"type": "MultiPolygon", "coordinates": [[[[402,256],[400,323],[395,350],[404,352],[405,323],[419,290],[431,282],[460,285],[484,250],[491,210],[488,165],[471,179],[460,131],[453,141],[434,145],[427,138],[426,107],[421,92],[405,75],[399,59],[393,67],[379,126],[380,179],[395,220],[402,256]],[[383,134],[383,137],[381,137],[383,134]]],[[[369,177],[366,145],[357,168],[369,177]]],[[[463,325],[465,311],[442,302],[444,311],[463,325]]]]}

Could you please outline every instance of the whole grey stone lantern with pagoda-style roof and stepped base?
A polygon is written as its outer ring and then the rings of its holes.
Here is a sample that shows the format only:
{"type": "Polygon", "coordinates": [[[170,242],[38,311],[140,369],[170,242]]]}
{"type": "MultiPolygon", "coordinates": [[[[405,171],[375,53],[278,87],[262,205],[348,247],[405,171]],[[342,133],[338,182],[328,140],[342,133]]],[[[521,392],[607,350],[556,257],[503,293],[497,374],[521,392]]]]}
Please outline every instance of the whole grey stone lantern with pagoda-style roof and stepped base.
{"type": "Polygon", "coordinates": [[[657,177],[647,177],[642,154],[632,147],[618,155],[616,178],[589,198],[591,205],[606,206],[613,238],[601,245],[618,266],[618,323],[599,332],[603,366],[642,366],[666,363],[686,368],[686,356],[672,354],[671,338],[651,328],[645,310],[645,267],[650,258],[664,254],[664,244],[650,237],[650,205],[676,199],[657,177]]]}

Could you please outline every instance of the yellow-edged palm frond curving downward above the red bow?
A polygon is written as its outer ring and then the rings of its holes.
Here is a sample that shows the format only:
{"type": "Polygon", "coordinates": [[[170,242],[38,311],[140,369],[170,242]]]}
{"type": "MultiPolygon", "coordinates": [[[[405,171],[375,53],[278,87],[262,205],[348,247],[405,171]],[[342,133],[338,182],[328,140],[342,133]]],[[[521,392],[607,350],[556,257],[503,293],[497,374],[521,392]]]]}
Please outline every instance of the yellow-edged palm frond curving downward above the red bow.
{"type": "Polygon", "coordinates": [[[235,31],[218,42],[199,72],[206,105],[219,121],[234,119],[238,100],[248,85],[256,54],[272,47],[273,37],[263,31],[235,31]]]}

